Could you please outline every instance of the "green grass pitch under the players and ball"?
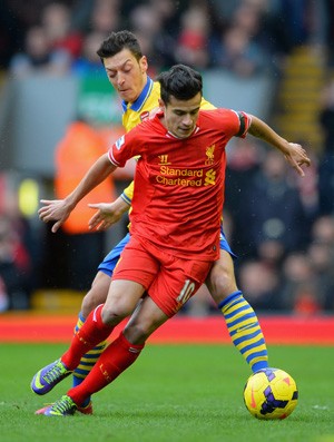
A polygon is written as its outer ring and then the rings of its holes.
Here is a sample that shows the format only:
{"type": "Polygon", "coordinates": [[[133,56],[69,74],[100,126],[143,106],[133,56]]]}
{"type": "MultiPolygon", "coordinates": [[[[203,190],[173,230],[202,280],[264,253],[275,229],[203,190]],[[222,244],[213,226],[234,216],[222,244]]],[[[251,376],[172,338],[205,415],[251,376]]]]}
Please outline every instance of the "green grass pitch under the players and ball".
{"type": "Polygon", "coordinates": [[[95,415],[33,414],[66,392],[30,391],[35,372],[63,345],[0,345],[1,442],[334,442],[334,348],[271,346],[271,365],[299,390],[284,421],[257,421],[243,403],[248,367],[230,345],[148,345],[114,385],[95,395],[95,415]]]}

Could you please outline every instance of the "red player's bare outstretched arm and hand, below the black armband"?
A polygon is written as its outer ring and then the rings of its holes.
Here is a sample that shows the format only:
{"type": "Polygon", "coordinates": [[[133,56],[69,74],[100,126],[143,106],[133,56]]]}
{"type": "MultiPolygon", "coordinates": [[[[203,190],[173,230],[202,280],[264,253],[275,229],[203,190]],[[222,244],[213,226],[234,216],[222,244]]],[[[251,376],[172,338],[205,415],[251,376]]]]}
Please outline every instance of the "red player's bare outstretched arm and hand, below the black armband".
{"type": "Polygon", "coordinates": [[[253,115],[249,117],[252,118],[252,122],[248,128],[248,134],[281,150],[287,163],[296,169],[301,176],[304,176],[305,174],[302,166],[306,165],[308,167],[311,165],[311,159],[307,157],[303,147],[295,143],[288,143],[286,139],[282,138],[274,129],[259,118],[253,115]]]}

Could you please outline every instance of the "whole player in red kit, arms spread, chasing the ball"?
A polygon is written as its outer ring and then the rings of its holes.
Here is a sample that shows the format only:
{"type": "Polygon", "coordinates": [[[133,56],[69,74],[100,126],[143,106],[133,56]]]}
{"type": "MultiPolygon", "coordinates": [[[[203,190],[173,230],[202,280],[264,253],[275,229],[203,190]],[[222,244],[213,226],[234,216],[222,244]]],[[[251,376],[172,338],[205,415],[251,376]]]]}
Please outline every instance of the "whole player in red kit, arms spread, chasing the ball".
{"type": "Polygon", "coordinates": [[[49,202],[39,212],[41,219],[61,224],[116,167],[140,155],[131,237],[112,275],[107,301],[91,312],[60,360],[35,375],[33,391],[50,391],[122,318],[131,318],[84,382],[45,415],[73,414],[87,397],[112,382],[136,361],[148,336],[205,282],[219,257],[225,146],[233,136],[256,135],[281,150],[298,171],[310,165],[299,145],[287,143],[256,117],[227,109],[199,111],[202,77],[193,69],[178,65],[159,81],[161,112],[122,136],[65,200],[49,202]],[[49,372],[52,379],[43,385],[49,372]]]}

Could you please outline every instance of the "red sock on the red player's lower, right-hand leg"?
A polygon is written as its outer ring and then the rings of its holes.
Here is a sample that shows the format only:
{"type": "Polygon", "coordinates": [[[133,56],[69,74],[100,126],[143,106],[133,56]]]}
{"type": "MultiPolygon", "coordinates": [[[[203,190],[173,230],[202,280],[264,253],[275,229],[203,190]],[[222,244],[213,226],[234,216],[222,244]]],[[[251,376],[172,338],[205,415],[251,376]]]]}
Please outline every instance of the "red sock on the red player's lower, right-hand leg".
{"type": "Polygon", "coordinates": [[[80,385],[68,391],[68,395],[80,405],[91,394],[110,384],[120,373],[139,356],[144,345],[130,344],[120,335],[104,351],[91,372],[80,385]]]}

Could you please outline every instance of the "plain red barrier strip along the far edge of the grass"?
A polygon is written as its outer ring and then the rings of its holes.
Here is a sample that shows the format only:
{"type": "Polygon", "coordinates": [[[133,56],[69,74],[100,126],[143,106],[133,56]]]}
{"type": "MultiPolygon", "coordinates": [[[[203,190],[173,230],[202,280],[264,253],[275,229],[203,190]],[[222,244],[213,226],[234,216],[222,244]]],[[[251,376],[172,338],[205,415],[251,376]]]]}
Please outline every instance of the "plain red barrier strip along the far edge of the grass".
{"type": "MultiPolygon", "coordinates": [[[[259,321],[268,344],[334,345],[334,316],[259,316],[259,321]]],[[[75,324],[76,317],[70,315],[2,314],[0,343],[69,343],[75,324]]],[[[225,344],[230,343],[230,338],[222,316],[175,316],[157,330],[149,342],[225,344]]]]}

